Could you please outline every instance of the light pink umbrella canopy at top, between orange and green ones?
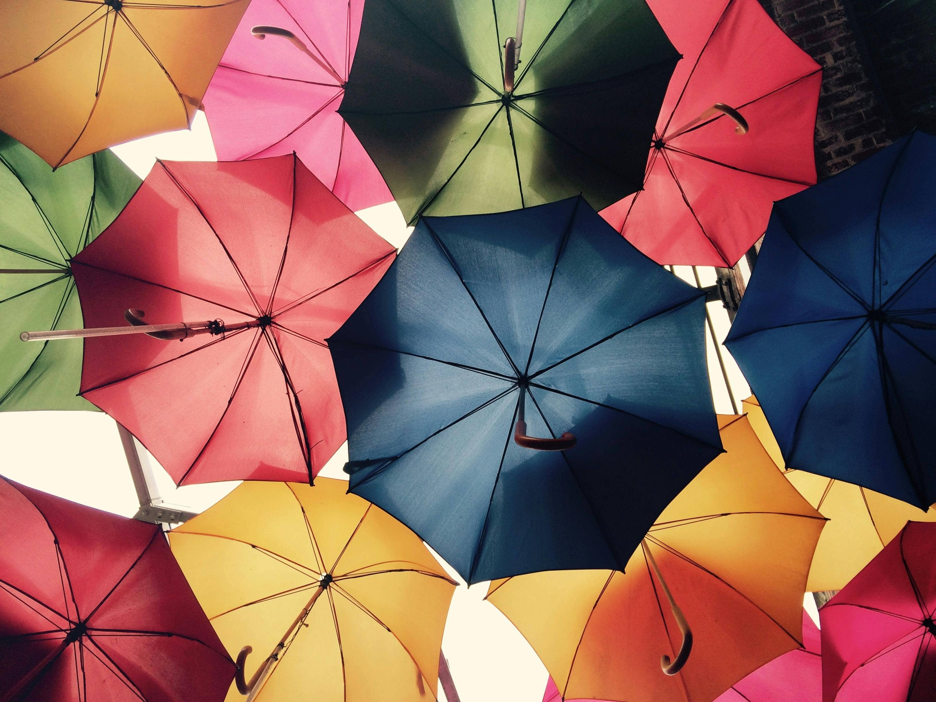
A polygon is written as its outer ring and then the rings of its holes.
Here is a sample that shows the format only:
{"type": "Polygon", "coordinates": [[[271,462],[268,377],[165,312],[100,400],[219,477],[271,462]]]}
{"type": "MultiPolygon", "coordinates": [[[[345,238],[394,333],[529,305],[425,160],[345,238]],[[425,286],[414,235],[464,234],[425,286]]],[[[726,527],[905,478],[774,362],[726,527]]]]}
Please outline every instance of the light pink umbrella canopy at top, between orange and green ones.
{"type": "Polygon", "coordinates": [[[253,0],[205,93],[218,158],[296,152],[352,210],[393,199],[335,111],[342,104],[363,7],[363,0],[253,0]],[[292,37],[252,32],[265,25],[292,37]]]}

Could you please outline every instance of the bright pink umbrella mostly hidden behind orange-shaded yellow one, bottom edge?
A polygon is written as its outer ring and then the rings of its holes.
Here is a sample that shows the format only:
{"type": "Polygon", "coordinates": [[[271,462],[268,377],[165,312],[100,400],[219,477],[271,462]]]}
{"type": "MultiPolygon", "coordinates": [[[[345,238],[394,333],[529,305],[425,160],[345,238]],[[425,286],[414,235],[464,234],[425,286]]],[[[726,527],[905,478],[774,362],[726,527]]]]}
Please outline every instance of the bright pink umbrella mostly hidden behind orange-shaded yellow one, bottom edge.
{"type": "MultiPolygon", "coordinates": [[[[822,689],[819,629],[805,610],[803,646],[757,668],[747,678],[732,685],[715,702],[819,702],[822,689]]],[[[562,702],[562,699],[556,683],[549,678],[543,702],[562,702]]]]}

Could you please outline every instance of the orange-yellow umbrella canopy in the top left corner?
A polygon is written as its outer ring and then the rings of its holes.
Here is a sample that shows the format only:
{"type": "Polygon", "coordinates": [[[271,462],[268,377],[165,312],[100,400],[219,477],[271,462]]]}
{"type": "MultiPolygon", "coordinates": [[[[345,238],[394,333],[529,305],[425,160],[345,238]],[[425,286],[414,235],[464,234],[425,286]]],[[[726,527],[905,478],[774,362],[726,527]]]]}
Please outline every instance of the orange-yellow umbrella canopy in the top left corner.
{"type": "Polygon", "coordinates": [[[0,5],[0,129],[58,167],[192,124],[249,0],[0,5]]]}

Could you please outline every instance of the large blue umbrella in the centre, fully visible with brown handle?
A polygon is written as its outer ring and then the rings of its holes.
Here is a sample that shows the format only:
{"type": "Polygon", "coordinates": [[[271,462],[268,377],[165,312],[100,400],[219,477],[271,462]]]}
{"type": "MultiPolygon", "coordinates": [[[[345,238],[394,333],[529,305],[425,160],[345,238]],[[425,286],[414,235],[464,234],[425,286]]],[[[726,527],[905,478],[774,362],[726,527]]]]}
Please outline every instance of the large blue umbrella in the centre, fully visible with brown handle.
{"type": "Polygon", "coordinates": [[[423,217],[329,339],[351,491],[468,582],[623,570],[722,450],[702,295],[581,197],[423,217]]]}

